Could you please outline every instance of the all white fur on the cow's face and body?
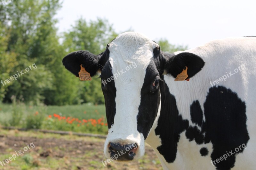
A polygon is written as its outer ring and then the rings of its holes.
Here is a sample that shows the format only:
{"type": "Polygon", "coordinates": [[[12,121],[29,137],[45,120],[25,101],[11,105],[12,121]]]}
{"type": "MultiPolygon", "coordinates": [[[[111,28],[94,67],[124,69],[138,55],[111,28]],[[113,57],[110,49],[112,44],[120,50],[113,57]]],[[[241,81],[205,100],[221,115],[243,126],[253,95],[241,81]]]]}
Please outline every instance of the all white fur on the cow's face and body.
{"type": "MultiPolygon", "coordinates": [[[[132,62],[137,67],[126,71],[122,76],[115,79],[116,85],[116,115],[113,126],[109,129],[105,142],[104,153],[109,157],[108,143],[133,143],[139,146],[139,151],[135,158],[144,154],[144,137],[137,131],[137,115],[140,105],[140,90],[146,73],[146,68],[153,57],[153,49],[158,45],[146,36],[126,32],[120,34],[109,44],[109,60],[113,74],[124,70],[132,62]],[[136,39],[136,41],[134,41],[136,39]],[[113,132],[112,132],[113,131],[113,132]]],[[[181,52],[181,51],[180,51],[181,52]]],[[[180,53],[176,52],[176,54],[180,53]]],[[[204,101],[207,92],[212,85],[210,81],[219,79],[226,72],[245,65],[245,70],[235,73],[233,76],[217,85],[230,88],[236,92],[238,97],[246,103],[247,130],[250,140],[243,153],[236,155],[235,167],[232,169],[254,169],[256,167],[256,123],[255,123],[255,95],[256,95],[256,38],[234,37],[222,40],[211,41],[204,46],[193,48],[185,52],[199,55],[204,61],[204,68],[197,73],[190,81],[174,81],[171,76],[165,75],[164,80],[169,87],[170,93],[175,96],[179,113],[183,119],[189,121],[189,125],[195,126],[191,122],[190,105],[194,100],[198,100],[204,112],[204,101]]],[[[164,101],[162,101],[164,102],[164,101]]],[[[155,134],[157,119],[160,114],[159,105],[157,118],[148,134],[146,142],[150,144],[156,152],[164,169],[215,169],[211,164],[212,144],[196,144],[189,142],[185,132],[180,134],[178,152],[175,161],[167,163],[164,157],[159,154],[157,147],[161,145],[161,139],[155,134]],[[200,148],[207,147],[209,154],[202,157],[200,148]]],[[[205,118],[203,118],[205,120],[205,118]]],[[[201,129],[201,128],[199,128],[201,129]]]]}

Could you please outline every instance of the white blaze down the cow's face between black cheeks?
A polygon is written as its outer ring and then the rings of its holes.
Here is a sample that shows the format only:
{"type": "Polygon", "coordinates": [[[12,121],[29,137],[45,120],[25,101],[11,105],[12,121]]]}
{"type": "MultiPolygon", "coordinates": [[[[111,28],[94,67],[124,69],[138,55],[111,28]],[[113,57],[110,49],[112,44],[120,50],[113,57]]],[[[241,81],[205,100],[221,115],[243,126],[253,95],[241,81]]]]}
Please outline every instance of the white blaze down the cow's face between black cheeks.
{"type": "Polygon", "coordinates": [[[112,80],[116,86],[116,115],[105,142],[104,154],[108,158],[109,142],[137,143],[136,157],[144,155],[144,137],[137,130],[137,115],[146,68],[155,47],[159,45],[134,32],[120,34],[109,44],[109,61],[116,77],[112,80]]]}

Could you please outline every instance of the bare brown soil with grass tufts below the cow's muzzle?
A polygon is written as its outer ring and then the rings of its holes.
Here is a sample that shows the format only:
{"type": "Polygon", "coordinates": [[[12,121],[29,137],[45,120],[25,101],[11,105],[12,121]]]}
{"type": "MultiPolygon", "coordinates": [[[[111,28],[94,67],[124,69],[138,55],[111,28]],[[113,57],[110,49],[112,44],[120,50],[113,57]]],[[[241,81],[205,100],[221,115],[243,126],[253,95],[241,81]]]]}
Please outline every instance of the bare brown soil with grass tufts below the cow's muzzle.
{"type": "Polygon", "coordinates": [[[145,156],[137,161],[113,161],[103,165],[102,160],[106,160],[103,155],[104,139],[0,130],[0,160],[3,162],[9,156],[21,153],[16,160],[4,166],[0,164],[0,169],[162,169],[149,146],[146,146],[145,156]],[[25,151],[27,145],[30,149],[25,151]]]}

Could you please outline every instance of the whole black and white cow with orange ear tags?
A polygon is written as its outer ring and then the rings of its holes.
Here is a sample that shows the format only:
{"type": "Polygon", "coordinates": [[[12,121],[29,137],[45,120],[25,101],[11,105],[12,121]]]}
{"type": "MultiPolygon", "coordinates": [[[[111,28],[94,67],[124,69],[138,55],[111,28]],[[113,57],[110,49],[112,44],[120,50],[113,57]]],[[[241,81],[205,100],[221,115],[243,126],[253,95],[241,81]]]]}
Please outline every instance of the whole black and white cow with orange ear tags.
{"type": "Polygon", "coordinates": [[[81,64],[101,73],[108,158],[131,144],[117,160],[140,158],[147,142],[164,169],[256,168],[255,37],[168,54],[126,32],[100,55],[76,51],[63,64],[76,76],[81,64]],[[174,81],[184,67],[190,81],[174,81]]]}

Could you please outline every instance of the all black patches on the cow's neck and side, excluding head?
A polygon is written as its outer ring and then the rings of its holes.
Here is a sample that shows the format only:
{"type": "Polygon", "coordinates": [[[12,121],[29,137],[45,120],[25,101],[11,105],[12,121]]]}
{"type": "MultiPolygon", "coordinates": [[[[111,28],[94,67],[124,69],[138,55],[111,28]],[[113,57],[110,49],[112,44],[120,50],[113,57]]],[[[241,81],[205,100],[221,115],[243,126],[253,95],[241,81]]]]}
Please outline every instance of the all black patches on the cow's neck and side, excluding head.
{"type": "MultiPolygon", "coordinates": [[[[161,126],[157,126],[155,133],[160,135],[162,141],[162,145],[157,147],[157,150],[168,163],[176,159],[180,133],[184,130],[189,141],[195,140],[196,144],[212,143],[212,161],[229,151],[234,153],[235,148],[247,144],[249,134],[246,128],[246,107],[235,92],[223,86],[211,87],[204,102],[205,122],[203,123],[202,108],[197,100],[194,101],[190,106],[190,114],[192,122],[202,128],[198,129],[197,126],[188,126],[188,121],[183,120],[179,115],[176,100],[170,94],[165,82],[161,83],[160,91],[162,102],[158,125],[161,126]]],[[[236,153],[243,150],[242,148],[236,153]]],[[[206,147],[201,148],[202,156],[207,156],[208,153],[206,147]]],[[[215,166],[217,169],[231,169],[235,165],[235,159],[235,154],[230,155],[227,160],[219,163],[215,161],[215,166]]]]}

